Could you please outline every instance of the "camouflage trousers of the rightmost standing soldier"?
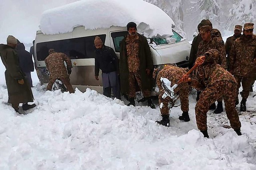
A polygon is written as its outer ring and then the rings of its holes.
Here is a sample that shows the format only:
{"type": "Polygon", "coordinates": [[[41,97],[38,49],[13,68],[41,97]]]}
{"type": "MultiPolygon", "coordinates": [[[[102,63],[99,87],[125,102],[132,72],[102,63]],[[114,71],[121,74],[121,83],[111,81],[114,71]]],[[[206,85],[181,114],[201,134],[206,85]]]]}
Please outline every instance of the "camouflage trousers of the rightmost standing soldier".
{"type": "Polygon", "coordinates": [[[241,87],[241,82],[242,82],[242,87],[243,87],[241,96],[242,96],[242,98],[247,99],[250,94],[250,88],[251,88],[252,82],[254,82],[254,77],[250,77],[250,76],[242,77],[242,76],[234,75],[234,78],[236,79],[236,82],[237,82],[236,99],[238,99],[239,88],[241,87]]]}

